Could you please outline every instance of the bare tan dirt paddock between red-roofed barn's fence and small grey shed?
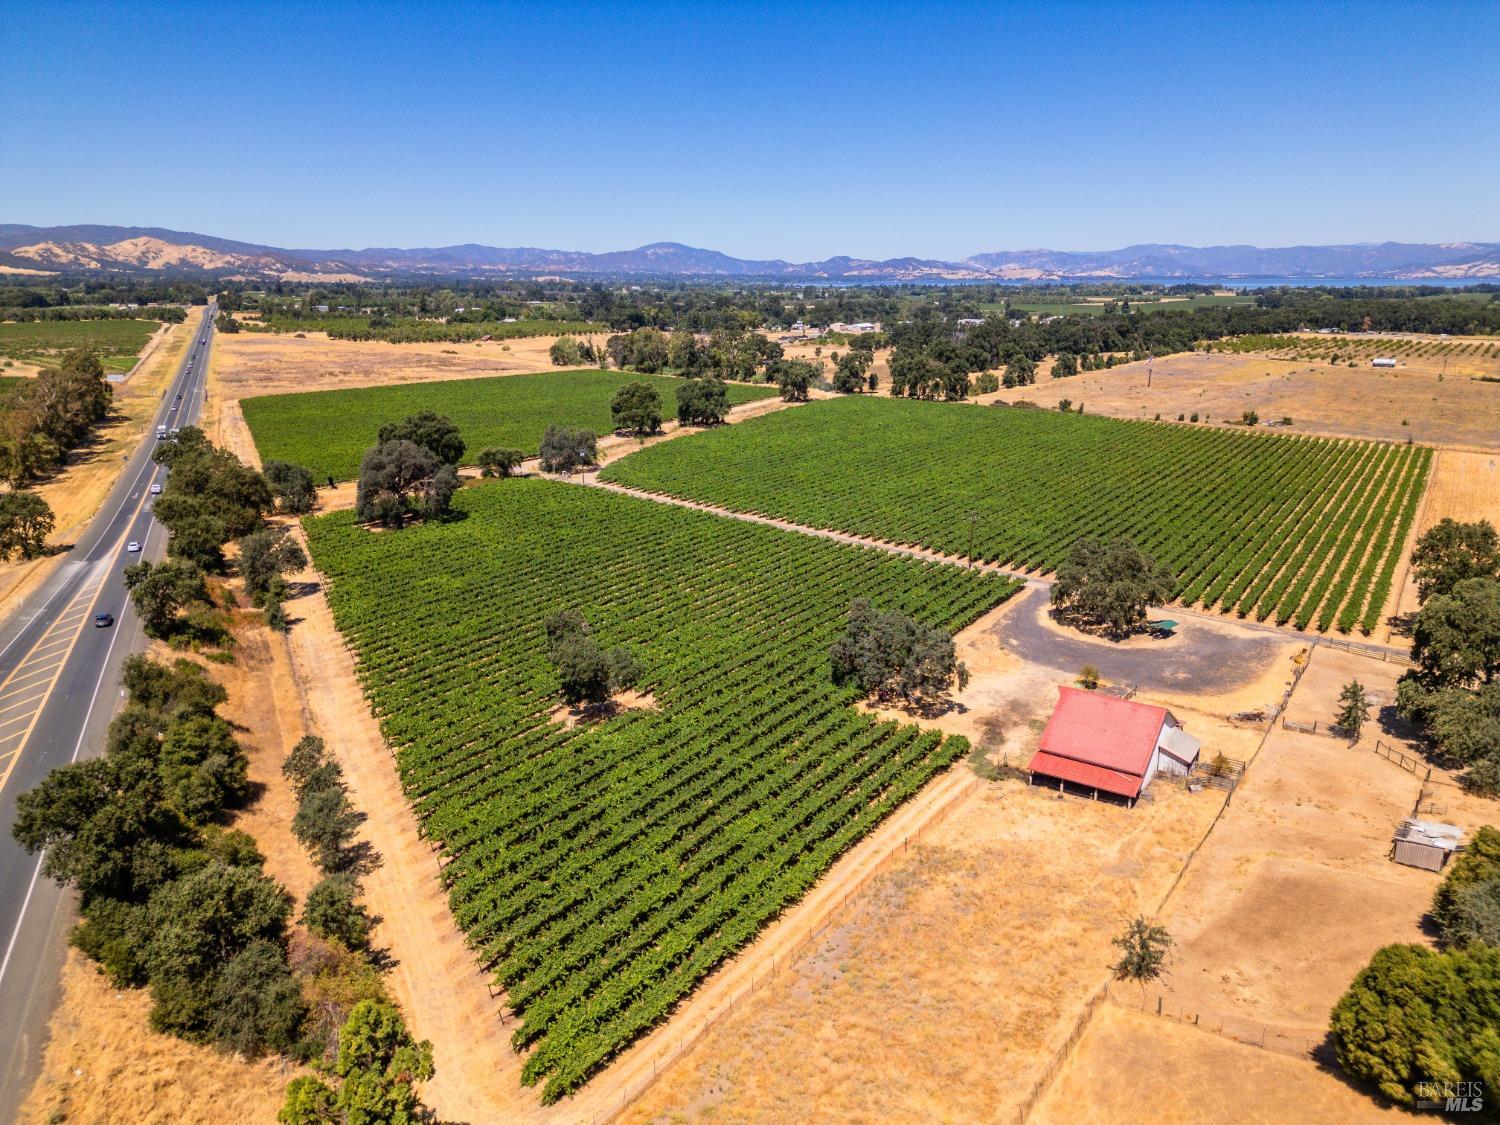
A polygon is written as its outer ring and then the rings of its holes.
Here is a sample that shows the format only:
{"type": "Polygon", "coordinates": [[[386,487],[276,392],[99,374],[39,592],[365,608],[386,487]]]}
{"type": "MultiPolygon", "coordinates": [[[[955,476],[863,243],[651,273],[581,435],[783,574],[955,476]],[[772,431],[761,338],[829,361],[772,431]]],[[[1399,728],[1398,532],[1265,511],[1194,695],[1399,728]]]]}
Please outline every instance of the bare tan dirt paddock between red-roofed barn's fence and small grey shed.
{"type": "MultiPolygon", "coordinates": [[[[1328,722],[1353,678],[1389,702],[1400,670],[1320,648],[1287,717],[1328,722]]],[[[1388,860],[1422,783],[1377,756],[1377,738],[1392,741],[1376,722],[1353,747],[1270,730],[1164,912],[1178,940],[1160,988],[1170,1004],[1320,1040],[1376,950],[1426,940],[1422,916],[1438,876],[1388,860]]]]}

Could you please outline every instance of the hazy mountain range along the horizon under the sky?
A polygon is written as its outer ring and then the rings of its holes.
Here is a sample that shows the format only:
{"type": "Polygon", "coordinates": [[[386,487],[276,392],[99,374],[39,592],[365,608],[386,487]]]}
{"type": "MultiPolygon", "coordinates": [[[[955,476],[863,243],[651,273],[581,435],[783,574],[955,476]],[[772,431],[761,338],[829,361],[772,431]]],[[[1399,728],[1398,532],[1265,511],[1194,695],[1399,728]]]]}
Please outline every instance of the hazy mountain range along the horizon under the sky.
{"type": "Polygon", "coordinates": [[[813,262],[734,258],[674,242],[588,254],[532,246],[280,249],[159,226],[0,224],[0,276],[195,274],[222,280],[360,282],[390,278],[741,278],[831,282],[1203,280],[1368,278],[1497,279],[1500,243],[1174,246],[1119,250],[990,250],[962,261],[836,256],[813,262]]]}

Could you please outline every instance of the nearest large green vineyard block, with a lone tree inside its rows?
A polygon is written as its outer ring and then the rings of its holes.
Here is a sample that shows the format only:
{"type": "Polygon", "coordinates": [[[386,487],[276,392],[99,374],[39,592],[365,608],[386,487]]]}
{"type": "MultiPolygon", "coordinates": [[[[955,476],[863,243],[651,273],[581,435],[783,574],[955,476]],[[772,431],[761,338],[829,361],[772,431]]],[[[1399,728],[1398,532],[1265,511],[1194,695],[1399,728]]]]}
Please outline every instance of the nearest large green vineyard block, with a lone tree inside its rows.
{"type": "Polygon", "coordinates": [[[878,723],[828,650],[868,597],[958,628],[1017,584],[546,480],[462,519],[308,522],[328,600],[471,948],[552,1101],[964,750],[878,723]],[[543,618],[630,645],[656,710],[550,722],[543,618]]]}

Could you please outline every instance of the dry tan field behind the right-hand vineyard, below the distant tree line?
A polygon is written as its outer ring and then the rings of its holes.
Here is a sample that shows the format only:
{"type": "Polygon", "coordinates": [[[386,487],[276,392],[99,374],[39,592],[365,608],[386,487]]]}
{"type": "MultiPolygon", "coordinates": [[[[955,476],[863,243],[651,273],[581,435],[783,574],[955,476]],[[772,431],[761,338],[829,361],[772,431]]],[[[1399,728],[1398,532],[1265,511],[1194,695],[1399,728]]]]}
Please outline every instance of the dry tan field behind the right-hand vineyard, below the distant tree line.
{"type": "MultiPolygon", "coordinates": [[[[1260,354],[1188,352],[1155,360],[1149,388],[1146,366],[1126,363],[1066,380],[1042,376],[1026,393],[1012,392],[1010,398],[1048,408],[1068,398],[1083,402],[1090,414],[1120,418],[1160,414],[1173,420],[1197,412],[1212,423],[1238,422],[1244,411],[1254,410],[1263,423],[1290,417],[1293,434],[1500,448],[1500,382],[1455,374],[1456,360],[1444,378],[1440,369],[1414,364],[1388,370],[1260,354]]],[[[1500,378],[1500,358],[1476,358],[1470,366],[1474,374],[1500,378]]]]}

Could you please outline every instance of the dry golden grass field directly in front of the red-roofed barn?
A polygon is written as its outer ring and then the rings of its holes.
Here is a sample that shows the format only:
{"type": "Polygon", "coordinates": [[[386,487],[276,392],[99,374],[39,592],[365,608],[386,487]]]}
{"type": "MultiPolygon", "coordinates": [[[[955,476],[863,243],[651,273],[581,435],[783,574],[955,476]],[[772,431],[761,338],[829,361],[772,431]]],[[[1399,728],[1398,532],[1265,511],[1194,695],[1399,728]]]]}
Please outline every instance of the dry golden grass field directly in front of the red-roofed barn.
{"type": "Polygon", "coordinates": [[[986,786],[624,1119],[1008,1119],[1218,807],[986,786]]]}

